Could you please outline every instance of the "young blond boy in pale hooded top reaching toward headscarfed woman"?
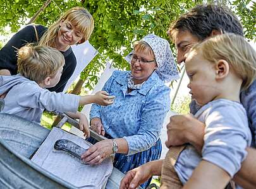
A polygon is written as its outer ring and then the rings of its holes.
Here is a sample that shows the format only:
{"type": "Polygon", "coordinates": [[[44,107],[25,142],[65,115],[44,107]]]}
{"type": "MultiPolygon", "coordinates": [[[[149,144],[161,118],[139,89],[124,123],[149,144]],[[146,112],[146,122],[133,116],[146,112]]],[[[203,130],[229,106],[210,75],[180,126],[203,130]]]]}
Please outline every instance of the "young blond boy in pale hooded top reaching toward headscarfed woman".
{"type": "Polygon", "coordinates": [[[15,76],[0,76],[0,96],[4,97],[4,109],[9,113],[40,123],[44,109],[49,112],[66,112],[79,118],[80,130],[90,135],[85,115],[76,112],[79,105],[97,103],[111,105],[114,96],[106,91],[95,95],[78,96],[50,92],[46,88],[55,86],[61,77],[64,57],[58,50],[46,46],[30,44],[18,50],[18,72],[15,76]]]}

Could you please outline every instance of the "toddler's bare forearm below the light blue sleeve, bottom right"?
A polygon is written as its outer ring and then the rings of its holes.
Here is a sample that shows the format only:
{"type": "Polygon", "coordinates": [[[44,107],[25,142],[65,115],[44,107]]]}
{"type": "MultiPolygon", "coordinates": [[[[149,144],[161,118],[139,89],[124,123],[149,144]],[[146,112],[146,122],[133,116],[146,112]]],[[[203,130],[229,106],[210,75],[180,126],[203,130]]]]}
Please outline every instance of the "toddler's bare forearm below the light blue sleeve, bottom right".
{"type": "Polygon", "coordinates": [[[230,176],[226,171],[219,168],[215,164],[209,163],[208,161],[201,161],[197,168],[193,171],[192,176],[183,186],[183,189],[188,188],[225,188],[228,185],[230,176]]]}

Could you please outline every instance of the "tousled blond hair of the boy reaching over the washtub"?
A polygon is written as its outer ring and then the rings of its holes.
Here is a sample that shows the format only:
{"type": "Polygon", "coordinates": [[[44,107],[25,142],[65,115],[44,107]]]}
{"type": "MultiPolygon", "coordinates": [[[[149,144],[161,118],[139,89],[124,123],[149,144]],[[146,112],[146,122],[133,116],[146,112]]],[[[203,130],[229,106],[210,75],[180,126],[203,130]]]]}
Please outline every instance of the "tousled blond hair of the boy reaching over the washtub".
{"type": "Polygon", "coordinates": [[[52,47],[27,44],[18,50],[18,72],[38,84],[54,77],[64,63],[63,54],[52,47]]]}

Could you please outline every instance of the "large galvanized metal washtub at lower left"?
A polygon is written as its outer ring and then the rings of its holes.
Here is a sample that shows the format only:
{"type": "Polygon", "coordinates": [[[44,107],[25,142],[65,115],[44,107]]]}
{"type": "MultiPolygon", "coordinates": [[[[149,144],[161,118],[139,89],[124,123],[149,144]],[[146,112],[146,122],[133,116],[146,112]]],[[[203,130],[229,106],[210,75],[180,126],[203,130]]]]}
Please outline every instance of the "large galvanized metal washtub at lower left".
{"type": "MultiPolygon", "coordinates": [[[[49,132],[37,123],[0,113],[0,188],[76,188],[30,161],[49,132]]],[[[106,188],[119,188],[123,176],[114,168],[106,188]]]]}

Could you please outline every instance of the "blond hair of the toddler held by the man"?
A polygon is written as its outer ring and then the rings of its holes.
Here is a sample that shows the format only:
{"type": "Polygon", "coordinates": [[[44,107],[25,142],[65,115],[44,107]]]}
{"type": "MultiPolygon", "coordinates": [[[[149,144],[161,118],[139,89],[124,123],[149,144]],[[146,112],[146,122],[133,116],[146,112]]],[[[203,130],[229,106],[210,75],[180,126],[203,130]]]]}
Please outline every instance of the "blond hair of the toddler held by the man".
{"type": "Polygon", "coordinates": [[[190,52],[202,52],[205,60],[216,63],[226,60],[242,80],[241,89],[247,89],[256,77],[256,52],[240,35],[226,33],[198,43],[190,52]]]}

